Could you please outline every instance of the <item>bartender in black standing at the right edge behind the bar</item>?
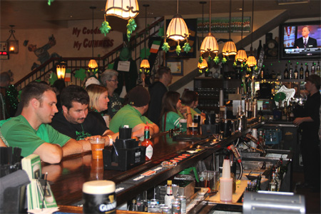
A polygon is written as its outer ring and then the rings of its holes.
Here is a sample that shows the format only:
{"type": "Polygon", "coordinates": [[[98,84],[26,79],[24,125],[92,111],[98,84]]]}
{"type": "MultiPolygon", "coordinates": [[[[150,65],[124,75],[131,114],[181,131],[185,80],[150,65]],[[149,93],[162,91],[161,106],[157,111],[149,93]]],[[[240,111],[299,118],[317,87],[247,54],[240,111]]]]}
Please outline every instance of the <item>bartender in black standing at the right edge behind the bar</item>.
{"type": "Polygon", "coordinates": [[[293,123],[300,126],[300,143],[305,183],[302,188],[320,192],[320,76],[312,74],[305,78],[305,89],[309,92],[300,117],[293,123]]]}

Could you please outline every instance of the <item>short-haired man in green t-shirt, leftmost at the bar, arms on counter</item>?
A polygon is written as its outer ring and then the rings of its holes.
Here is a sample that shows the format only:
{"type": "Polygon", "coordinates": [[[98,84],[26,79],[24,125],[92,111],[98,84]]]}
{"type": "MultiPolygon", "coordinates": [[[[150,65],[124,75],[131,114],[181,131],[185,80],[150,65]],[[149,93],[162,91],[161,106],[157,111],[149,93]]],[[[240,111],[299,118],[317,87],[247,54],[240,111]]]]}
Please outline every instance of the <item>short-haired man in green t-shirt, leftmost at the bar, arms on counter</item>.
{"type": "Polygon", "coordinates": [[[44,83],[29,83],[21,93],[21,115],[0,121],[1,133],[9,146],[21,148],[22,156],[37,154],[47,163],[59,163],[64,156],[90,151],[89,141],[76,141],[48,124],[58,112],[56,103],[53,88],[44,83]]]}

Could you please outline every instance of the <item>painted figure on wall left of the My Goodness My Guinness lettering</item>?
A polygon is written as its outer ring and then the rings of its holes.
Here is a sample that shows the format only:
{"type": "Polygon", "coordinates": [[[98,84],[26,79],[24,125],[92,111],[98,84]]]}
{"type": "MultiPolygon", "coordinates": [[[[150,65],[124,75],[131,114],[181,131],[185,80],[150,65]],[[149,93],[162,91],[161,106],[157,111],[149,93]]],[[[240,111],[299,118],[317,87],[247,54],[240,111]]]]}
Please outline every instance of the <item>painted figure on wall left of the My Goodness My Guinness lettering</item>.
{"type": "Polygon", "coordinates": [[[48,50],[51,49],[51,47],[54,45],[56,45],[56,39],[54,38],[54,35],[51,35],[49,37],[48,43],[42,46],[41,48],[37,48],[37,45],[29,44],[28,50],[34,52],[34,54],[36,54],[36,56],[38,57],[38,61],[40,61],[40,64],[34,62],[34,64],[31,66],[31,71],[33,71],[34,68],[37,68],[41,64],[45,63],[47,60],[49,60],[49,58],[60,57],[56,53],[53,53],[51,55],[49,54],[48,50]]]}

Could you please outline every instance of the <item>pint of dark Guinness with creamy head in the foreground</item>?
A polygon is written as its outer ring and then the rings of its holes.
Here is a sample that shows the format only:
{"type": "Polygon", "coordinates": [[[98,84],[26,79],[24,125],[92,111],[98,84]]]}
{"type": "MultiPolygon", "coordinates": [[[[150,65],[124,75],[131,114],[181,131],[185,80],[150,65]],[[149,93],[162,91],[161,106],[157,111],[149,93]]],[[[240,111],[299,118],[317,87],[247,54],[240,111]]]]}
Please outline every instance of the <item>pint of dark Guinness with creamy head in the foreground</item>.
{"type": "Polygon", "coordinates": [[[83,183],[83,213],[116,213],[116,185],[111,180],[83,183]]]}

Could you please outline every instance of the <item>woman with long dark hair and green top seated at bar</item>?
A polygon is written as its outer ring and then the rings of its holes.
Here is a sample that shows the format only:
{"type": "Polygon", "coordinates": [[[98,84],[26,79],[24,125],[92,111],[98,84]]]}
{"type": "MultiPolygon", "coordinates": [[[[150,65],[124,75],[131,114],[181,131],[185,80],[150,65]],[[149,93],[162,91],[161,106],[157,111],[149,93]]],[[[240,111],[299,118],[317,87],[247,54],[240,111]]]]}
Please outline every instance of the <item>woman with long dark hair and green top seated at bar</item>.
{"type": "Polygon", "coordinates": [[[161,111],[161,131],[168,131],[173,128],[180,128],[180,119],[185,118],[187,124],[192,123],[192,114],[190,106],[182,106],[180,93],[168,91],[163,96],[161,111]],[[183,114],[183,118],[179,113],[183,114]]]}

